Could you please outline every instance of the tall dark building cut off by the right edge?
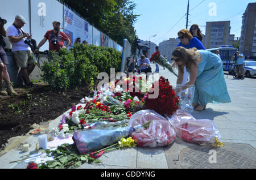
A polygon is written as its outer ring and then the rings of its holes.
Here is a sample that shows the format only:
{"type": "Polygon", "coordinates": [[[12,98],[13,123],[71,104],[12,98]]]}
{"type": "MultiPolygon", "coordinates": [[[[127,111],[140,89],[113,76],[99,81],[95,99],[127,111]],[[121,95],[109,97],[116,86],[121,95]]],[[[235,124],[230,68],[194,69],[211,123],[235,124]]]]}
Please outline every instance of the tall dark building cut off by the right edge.
{"type": "Polygon", "coordinates": [[[256,3],[249,3],[242,16],[240,52],[256,56],[256,3]]]}

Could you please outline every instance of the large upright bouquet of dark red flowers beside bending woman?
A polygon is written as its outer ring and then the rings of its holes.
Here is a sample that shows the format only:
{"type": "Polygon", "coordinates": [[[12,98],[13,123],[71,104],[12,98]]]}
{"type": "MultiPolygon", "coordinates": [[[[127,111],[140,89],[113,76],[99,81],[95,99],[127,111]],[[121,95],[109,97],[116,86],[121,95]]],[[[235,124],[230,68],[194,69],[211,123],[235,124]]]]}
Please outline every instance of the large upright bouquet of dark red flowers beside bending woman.
{"type": "Polygon", "coordinates": [[[155,85],[159,86],[159,95],[157,98],[148,98],[149,95],[154,92],[149,91],[144,98],[147,109],[155,110],[156,113],[161,115],[172,115],[179,109],[179,97],[175,97],[175,92],[167,79],[163,76],[160,77],[158,82],[152,85],[152,89],[155,85]]]}

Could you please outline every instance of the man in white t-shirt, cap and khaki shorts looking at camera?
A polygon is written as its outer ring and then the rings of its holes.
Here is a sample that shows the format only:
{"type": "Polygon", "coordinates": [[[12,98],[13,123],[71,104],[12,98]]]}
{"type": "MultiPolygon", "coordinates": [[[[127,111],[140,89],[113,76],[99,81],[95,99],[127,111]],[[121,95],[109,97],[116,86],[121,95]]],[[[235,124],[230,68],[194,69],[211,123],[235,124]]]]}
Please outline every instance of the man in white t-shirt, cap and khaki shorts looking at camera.
{"type": "Polygon", "coordinates": [[[16,65],[21,68],[25,87],[36,87],[29,78],[29,75],[35,68],[36,57],[31,50],[31,35],[22,29],[24,24],[27,24],[26,19],[22,15],[16,15],[14,23],[7,28],[7,36],[11,41],[11,51],[13,52],[16,65]]]}

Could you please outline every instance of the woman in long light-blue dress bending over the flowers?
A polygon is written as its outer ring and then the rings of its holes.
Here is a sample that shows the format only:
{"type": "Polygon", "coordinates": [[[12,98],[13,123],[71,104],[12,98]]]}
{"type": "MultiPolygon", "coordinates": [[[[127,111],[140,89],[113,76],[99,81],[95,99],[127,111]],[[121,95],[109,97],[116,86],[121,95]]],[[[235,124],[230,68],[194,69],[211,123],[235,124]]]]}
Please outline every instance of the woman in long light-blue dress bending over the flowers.
{"type": "Polygon", "coordinates": [[[176,92],[183,91],[195,84],[193,106],[196,111],[205,110],[209,102],[231,102],[222,61],[216,54],[196,48],[177,47],[172,52],[172,60],[177,63],[179,68],[177,84],[181,84],[183,80],[184,66],[189,72],[189,82],[176,89],[176,92]]]}

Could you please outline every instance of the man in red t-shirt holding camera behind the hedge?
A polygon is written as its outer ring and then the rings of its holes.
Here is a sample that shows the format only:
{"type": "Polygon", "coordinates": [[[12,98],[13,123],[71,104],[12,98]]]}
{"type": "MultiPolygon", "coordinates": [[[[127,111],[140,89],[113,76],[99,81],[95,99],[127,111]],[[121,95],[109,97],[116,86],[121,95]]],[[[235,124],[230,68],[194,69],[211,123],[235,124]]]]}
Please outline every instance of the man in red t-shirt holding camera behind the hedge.
{"type": "Polygon", "coordinates": [[[43,46],[47,40],[49,41],[49,51],[56,50],[56,52],[59,52],[60,48],[67,48],[71,44],[68,36],[60,31],[60,22],[55,21],[52,23],[52,26],[53,29],[46,32],[46,35],[44,35],[43,40],[39,42],[34,53],[38,53],[39,48],[43,46]],[[67,42],[66,46],[64,46],[64,41],[67,42]]]}

